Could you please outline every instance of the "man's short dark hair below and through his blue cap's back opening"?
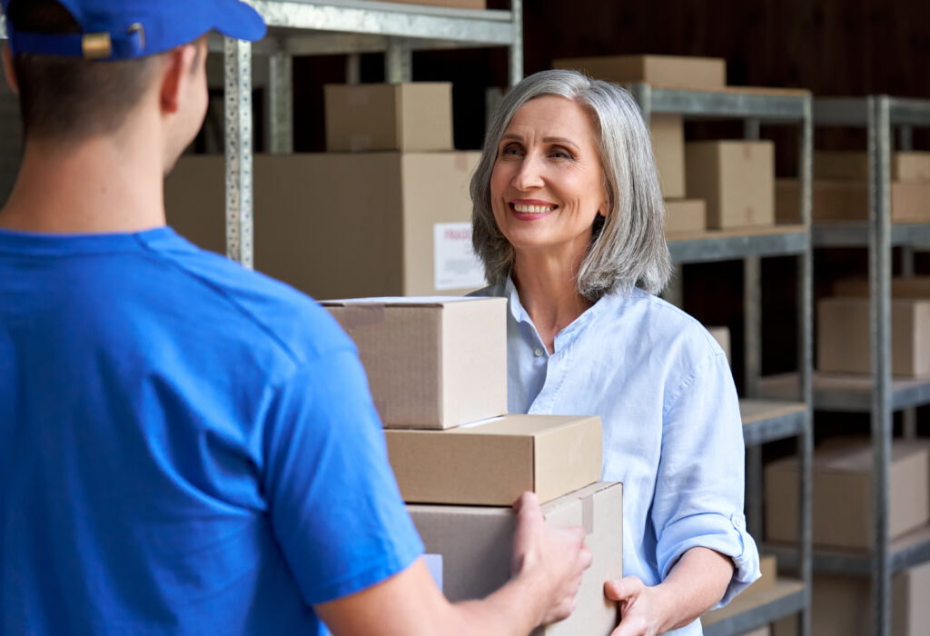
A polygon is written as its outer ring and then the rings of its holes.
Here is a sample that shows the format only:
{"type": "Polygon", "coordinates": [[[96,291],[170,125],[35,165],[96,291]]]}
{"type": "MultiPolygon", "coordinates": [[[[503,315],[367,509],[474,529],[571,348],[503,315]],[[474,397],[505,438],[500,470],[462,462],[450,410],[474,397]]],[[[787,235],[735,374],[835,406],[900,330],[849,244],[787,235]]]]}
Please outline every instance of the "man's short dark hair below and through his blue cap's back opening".
{"type": "MultiPolygon", "coordinates": [[[[10,0],[7,20],[24,32],[81,33],[71,13],[55,0],[10,0]]],[[[159,59],[15,55],[25,139],[80,140],[122,126],[148,88],[159,59]]]]}

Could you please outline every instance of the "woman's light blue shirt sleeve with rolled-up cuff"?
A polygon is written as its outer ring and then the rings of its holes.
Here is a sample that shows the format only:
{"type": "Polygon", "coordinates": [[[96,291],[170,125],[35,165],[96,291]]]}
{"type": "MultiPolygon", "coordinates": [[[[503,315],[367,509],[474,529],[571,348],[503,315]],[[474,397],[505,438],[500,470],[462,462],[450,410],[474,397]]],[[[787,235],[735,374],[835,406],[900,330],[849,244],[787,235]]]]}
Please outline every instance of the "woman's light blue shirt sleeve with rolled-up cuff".
{"type": "Polygon", "coordinates": [[[733,559],[721,605],[760,576],[759,553],[743,516],[744,457],[733,377],[724,352],[715,351],[668,400],[652,520],[663,579],[692,548],[733,559]]]}

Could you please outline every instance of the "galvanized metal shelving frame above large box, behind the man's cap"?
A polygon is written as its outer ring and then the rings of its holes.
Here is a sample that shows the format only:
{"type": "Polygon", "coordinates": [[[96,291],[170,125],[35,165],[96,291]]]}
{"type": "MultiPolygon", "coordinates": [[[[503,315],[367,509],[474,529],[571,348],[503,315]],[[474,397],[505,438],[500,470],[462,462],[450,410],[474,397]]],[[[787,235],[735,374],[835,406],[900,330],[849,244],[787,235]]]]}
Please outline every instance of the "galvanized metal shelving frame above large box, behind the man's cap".
{"type": "Polygon", "coordinates": [[[246,267],[252,250],[252,54],[270,64],[272,152],[293,148],[291,68],[295,55],[349,54],[347,75],[357,81],[358,57],[385,53],[389,82],[411,78],[414,50],[462,46],[510,48],[510,83],[523,78],[523,0],[510,11],[405,5],[374,0],[250,0],[268,24],[251,45],[217,38],[211,50],[225,60],[227,255],[246,267]]]}

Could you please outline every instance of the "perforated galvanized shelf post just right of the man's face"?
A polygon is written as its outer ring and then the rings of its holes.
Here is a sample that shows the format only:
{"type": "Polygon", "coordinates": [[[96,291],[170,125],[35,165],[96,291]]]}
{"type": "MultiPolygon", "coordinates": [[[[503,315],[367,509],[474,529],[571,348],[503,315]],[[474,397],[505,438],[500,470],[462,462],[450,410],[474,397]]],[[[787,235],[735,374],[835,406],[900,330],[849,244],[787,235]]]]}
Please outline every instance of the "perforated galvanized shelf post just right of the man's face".
{"type": "Polygon", "coordinates": [[[252,45],[224,38],[226,256],[252,269],[252,45]]]}

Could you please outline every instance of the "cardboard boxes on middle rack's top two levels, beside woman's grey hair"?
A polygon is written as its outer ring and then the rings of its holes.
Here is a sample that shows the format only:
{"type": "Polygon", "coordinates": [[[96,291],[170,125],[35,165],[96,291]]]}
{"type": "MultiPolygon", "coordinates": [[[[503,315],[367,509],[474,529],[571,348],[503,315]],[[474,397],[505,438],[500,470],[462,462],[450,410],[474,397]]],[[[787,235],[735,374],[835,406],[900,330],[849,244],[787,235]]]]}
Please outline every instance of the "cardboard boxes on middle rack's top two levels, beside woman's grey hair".
{"type": "MultiPolygon", "coordinates": [[[[553,66],[618,84],[726,89],[726,63],[717,58],[628,55],[554,60],[553,66]]],[[[649,128],[666,199],[669,236],[775,223],[774,145],[770,141],[685,143],[682,116],[668,113],[651,114],[649,128]]]]}

